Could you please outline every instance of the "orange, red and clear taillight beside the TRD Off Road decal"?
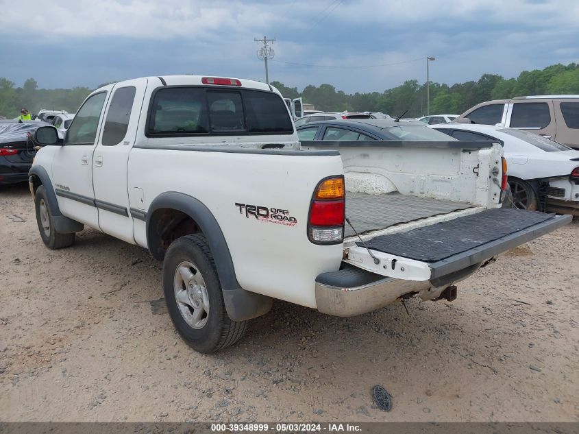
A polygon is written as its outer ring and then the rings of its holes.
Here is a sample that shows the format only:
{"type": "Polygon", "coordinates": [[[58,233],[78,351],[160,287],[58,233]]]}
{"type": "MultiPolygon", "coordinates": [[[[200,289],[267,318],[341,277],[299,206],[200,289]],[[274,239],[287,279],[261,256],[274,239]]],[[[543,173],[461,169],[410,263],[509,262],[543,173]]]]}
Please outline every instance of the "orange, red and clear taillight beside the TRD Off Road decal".
{"type": "Polygon", "coordinates": [[[316,244],[337,244],[344,239],[344,177],[332,176],[319,182],[312,196],[308,239],[316,244]]]}

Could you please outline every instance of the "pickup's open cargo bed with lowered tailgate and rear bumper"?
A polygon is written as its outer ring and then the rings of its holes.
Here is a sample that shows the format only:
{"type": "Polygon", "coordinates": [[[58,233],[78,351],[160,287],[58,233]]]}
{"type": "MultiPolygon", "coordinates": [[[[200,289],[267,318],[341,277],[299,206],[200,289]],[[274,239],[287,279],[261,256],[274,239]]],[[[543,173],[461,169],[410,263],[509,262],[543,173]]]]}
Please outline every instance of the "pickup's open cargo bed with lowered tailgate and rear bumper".
{"type": "MultiPolygon", "coordinates": [[[[388,121],[378,121],[388,125],[388,121]]],[[[360,315],[410,296],[454,300],[454,284],[569,217],[502,208],[506,164],[492,142],[307,141],[339,149],[343,264],[316,279],[317,309],[360,315]]]]}

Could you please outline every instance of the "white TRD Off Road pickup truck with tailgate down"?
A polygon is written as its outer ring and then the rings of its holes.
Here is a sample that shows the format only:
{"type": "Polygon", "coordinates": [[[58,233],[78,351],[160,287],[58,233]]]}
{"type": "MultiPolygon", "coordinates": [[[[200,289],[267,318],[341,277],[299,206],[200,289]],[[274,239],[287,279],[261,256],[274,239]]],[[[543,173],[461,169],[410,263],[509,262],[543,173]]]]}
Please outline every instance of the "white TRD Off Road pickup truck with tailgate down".
{"type": "Polygon", "coordinates": [[[400,141],[299,143],[268,84],[109,84],[64,140],[36,130],[40,237],[64,248],[86,225],[147,248],[164,261],[175,328],[214,352],[274,298],[341,316],[454,300],[454,284],[489,259],[570,221],[502,208],[500,145],[392,128],[400,141]]]}

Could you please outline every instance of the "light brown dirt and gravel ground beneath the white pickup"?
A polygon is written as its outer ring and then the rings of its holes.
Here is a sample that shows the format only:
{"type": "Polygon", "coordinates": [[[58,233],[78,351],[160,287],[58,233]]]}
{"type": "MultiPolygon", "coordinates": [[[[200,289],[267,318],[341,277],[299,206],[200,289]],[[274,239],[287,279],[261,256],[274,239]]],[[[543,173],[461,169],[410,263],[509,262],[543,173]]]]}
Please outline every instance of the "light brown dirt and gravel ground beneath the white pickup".
{"type": "Polygon", "coordinates": [[[95,230],[48,250],[27,186],[0,187],[0,420],[579,421],[578,241],[574,222],[410,315],[277,302],[202,355],[147,251],[95,230]]]}

